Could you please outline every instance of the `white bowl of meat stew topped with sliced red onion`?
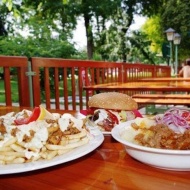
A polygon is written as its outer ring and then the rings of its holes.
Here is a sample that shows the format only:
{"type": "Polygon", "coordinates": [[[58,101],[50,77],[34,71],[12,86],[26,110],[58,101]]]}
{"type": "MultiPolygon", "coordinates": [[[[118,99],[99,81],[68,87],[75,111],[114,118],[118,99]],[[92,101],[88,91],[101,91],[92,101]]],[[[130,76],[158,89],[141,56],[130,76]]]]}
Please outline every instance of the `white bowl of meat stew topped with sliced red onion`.
{"type": "Polygon", "coordinates": [[[121,123],[111,134],[135,160],[160,169],[190,171],[189,114],[188,109],[172,108],[121,123]]]}

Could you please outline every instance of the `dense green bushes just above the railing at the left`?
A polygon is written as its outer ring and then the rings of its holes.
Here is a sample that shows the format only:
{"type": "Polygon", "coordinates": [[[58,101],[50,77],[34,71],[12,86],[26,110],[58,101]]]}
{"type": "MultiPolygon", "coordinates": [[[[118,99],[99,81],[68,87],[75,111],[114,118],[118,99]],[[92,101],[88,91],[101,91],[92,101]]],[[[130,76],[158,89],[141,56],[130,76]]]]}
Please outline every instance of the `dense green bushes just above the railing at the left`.
{"type": "Polygon", "coordinates": [[[28,37],[10,37],[0,39],[0,54],[27,57],[72,58],[77,51],[72,44],[59,39],[42,40],[28,37]]]}

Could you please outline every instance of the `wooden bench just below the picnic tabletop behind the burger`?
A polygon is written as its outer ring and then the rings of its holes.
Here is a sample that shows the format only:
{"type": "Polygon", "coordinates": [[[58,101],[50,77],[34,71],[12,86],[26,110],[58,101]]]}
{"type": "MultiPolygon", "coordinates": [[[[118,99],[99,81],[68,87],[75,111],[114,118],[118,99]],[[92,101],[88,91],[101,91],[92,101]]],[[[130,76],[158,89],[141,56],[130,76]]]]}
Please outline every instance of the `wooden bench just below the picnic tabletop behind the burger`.
{"type": "Polygon", "coordinates": [[[169,105],[190,105],[189,94],[134,94],[133,99],[139,105],[146,105],[146,114],[161,113],[168,109],[169,105]],[[165,107],[156,107],[156,105],[165,105],[165,107]]]}

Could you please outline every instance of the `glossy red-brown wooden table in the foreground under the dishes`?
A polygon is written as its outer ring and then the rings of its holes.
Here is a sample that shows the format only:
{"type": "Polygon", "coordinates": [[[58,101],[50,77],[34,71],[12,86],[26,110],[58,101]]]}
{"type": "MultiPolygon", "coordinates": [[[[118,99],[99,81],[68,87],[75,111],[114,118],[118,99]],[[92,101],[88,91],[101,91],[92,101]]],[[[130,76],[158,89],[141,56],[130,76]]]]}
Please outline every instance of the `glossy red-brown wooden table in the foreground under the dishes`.
{"type": "MultiPolygon", "coordinates": [[[[0,114],[14,109],[0,108],[0,114]]],[[[16,109],[18,110],[18,109],[16,109]]],[[[70,112],[80,116],[79,112],[70,112]]],[[[0,176],[1,190],[186,190],[190,172],[156,169],[131,158],[110,135],[88,155],[57,166],[0,176]]]]}

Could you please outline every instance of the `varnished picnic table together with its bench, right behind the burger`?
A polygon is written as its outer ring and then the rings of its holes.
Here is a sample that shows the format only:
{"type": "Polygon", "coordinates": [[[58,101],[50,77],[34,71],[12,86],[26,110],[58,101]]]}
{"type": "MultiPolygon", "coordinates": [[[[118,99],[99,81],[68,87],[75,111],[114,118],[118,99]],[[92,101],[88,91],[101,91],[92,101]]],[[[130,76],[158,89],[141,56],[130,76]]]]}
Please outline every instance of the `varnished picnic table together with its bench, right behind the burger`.
{"type": "MultiPolygon", "coordinates": [[[[155,105],[190,105],[188,93],[190,92],[190,81],[168,80],[168,81],[136,81],[126,83],[108,83],[85,86],[84,90],[98,90],[100,92],[118,91],[129,94],[140,106],[146,107],[146,113],[155,112],[155,105]],[[136,95],[138,94],[138,96],[136,95]],[[151,94],[151,96],[148,96],[151,94]],[[152,96],[152,94],[155,94],[152,96]],[[162,94],[162,97],[158,97],[162,94]],[[173,97],[164,97],[167,94],[175,94],[173,97]],[[183,96],[182,96],[183,94],[183,96]],[[135,96],[136,95],[136,96],[135,96]],[[175,97],[175,98],[174,98],[175,97]],[[153,106],[150,106],[153,105],[153,106]]],[[[88,93],[87,93],[88,94],[88,93]]],[[[90,97],[87,97],[89,99],[90,97]]],[[[159,111],[158,109],[156,111],[159,111]]]]}

